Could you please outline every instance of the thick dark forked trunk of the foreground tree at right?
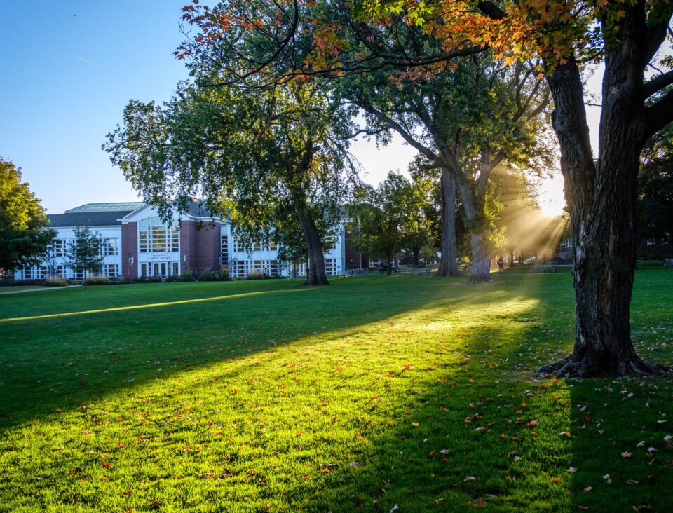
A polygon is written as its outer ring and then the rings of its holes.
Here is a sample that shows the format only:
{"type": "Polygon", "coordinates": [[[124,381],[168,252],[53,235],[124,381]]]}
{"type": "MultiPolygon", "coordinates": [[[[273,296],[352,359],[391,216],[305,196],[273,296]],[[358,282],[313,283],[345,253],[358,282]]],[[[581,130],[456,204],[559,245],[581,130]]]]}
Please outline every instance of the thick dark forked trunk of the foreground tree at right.
{"type": "Polygon", "coordinates": [[[642,376],[661,369],[637,356],[630,337],[642,132],[634,126],[638,97],[630,90],[629,64],[619,51],[606,57],[596,165],[576,62],[557,67],[548,78],[573,224],[576,341],[571,355],[541,367],[543,373],[642,376]]]}

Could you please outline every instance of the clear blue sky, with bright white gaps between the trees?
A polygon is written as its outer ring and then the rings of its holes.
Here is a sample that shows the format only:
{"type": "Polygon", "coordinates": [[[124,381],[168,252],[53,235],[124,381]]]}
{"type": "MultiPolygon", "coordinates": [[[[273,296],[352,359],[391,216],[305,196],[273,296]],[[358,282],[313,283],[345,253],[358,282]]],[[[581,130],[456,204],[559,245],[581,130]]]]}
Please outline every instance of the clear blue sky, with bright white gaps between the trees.
{"type": "MultiPolygon", "coordinates": [[[[188,0],[0,0],[0,156],[50,213],[83,203],[137,200],[101,144],[128,100],[168,100],[188,78],[173,50],[188,0]]],[[[365,180],[405,170],[415,152],[395,137],[353,153],[365,180]]],[[[542,188],[550,213],[563,206],[560,177],[542,188]]]]}

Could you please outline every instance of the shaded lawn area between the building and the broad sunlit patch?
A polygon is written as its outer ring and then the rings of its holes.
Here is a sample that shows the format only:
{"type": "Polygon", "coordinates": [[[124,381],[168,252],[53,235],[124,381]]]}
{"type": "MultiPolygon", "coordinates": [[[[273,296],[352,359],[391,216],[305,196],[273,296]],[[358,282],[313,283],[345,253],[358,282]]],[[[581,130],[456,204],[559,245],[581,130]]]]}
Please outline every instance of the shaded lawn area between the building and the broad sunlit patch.
{"type": "MultiPolygon", "coordinates": [[[[360,278],[355,287],[336,280],[332,287],[297,289],[296,281],[274,282],[271,291],[174,301],[158,301],[156,292],[172,290],[156,284],[152,303],[140,303],[136,296],[129,306],[90,310],[82,303],[72,309],[43,299],[37,315],[0,319],[0,429],[323,331],[377,322],[431,301],[423,294],[409,301],[404,287],[395,291],[386,283],[360,278]]],[[[447,282],[428,284],[437,294],[447,282]]],[[[100,292],[109,300],[121,287],[100,292]]],[[[90,294],[84,301],[94,298],[90,294]]],[[[36,309],[30,302],[27,308],[36,309]]]]}

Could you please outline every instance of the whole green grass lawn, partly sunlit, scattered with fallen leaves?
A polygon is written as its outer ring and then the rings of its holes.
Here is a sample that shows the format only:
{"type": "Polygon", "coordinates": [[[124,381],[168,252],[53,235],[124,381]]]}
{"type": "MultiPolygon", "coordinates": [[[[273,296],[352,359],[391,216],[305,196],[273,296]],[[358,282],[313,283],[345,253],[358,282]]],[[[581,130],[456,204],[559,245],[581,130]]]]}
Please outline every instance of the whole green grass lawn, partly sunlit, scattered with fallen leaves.
{"type": "Polygon", "coordinates": [[[673,380],[533,378],[572,343],[569,273],[0,296],[0,510],[670,511],[673,380]]]}

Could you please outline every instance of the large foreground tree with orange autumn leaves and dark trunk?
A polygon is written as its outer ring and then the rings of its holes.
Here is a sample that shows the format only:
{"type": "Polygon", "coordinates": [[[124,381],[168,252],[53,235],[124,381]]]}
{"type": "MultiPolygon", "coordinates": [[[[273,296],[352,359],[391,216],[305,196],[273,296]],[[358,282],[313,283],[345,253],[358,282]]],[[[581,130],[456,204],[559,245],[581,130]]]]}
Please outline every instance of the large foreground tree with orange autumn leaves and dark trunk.
{"type": "MultiPolygon", "coordinates": [[[[224,2],[204,16],[196,9],[186,13],[208,36],[217,32],[208,20],[219,20],[224,2]],[[204,22],[205,20],[205,22],[204,22]]],[[[331,2],[326,1],[331,5],[331,2]]],[[[248,3],[252,4],[252,3],[248,3]]],[[[311,2],[307,2],[309,6],[311,2]]],[[[340,4],[344,22],[332,22],[328,44],[314,45],[323,56],[316,67],[293,61],[304,25],[315,16],[306,14],[299,1],[273,4],[279,20],[264,56],[234,70],[230,80],[262,74],[278,80],[285,74],[344,74],[395,67],[440,67],[458,55],[494,51],[505,62],[541,60],[554,100],[552,124],[561,147],[561,169],[573,226],[576,343],[568,357],[544,366],[543,373],[559,376],[645,376],[663,371],[638,357],[630,334],[630,301],[636,257],[636,199],[639,155],[652,135],[673,121],[673,60],[660,58],[665,48],[673,4],[658,0],[606,0],[601,2],[530,0],[524,2],[438,0],[400,2],[362,0],[340,4]],[[395,38],[400,25],[419,27],[440,43],[440,48],[409,46],[395,38]],[[339,60],[344,32],[360,34],[365,51],[339,60]],[[277,43],[274,43],[276,39],[277,43]],[[589,139],[581,79],[583,63],[604,63],[598,158],[589,139]],[[293,67],[294,66],[294,67],[293,67]],[[651,68],[650,68],[651,67],[651,68]],[[646,70],[653,69],[655,73],[646,70]],[[660,70],[660,71],[658,71],[660,70]]],[[[272,8],[273,10],[273,8],[272,8]]],[[[248,27],[251,18],[243,18],[248,27]]],[[[328,18],[329,19],[329,18],[328,18]]],[[[257,16],[252,17],[253,21],[257,16]]],[[[339,20],[341,21],[341,20],[339,20]]],[[[329,24],[328,24],[329,25],[329,24]]],[[[310,31],[314,37],[320,30],[310,31]]],[[[226,39],[226,46],[238,51],[226,39]]],[[[179,50],[183,57],[203,57],[210,43],[194,40],[179,50]]],[[[665,52],[664,52],[665,53],[665,52]]]]}

